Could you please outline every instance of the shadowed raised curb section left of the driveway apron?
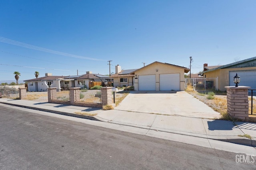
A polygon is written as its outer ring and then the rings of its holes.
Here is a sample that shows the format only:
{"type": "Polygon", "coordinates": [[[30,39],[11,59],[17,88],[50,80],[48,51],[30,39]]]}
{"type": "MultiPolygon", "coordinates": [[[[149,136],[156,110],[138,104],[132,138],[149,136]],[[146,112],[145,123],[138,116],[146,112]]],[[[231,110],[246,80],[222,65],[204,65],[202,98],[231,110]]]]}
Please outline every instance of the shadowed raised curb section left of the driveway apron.
{"type": "Polygon", "coordinates": [[[7,104],[7,105],[10,105],[10,106],[23,107],[23,108],[27,108],[27,109],[46,111],[46,112],[56,113],[56,114],[60,114],[60,115],[66,115],[66,116],[78,117],[78,118],[83,118],[83,119],[101,121],[100,119],[97,119],[97,118],[95,118],[93,116],[88,116],[88,115],[78,115],[78,114],[75,114],[75,113],[67,113],[67,112],[62,112],[62,111],[43,109],[43,108],[31,107],[31,106],[24,106],[24,105],[18,105],[18,104],[11,104],[11,103],[5,103],[5,102],[0,102],[0,103],[7,104]]]}

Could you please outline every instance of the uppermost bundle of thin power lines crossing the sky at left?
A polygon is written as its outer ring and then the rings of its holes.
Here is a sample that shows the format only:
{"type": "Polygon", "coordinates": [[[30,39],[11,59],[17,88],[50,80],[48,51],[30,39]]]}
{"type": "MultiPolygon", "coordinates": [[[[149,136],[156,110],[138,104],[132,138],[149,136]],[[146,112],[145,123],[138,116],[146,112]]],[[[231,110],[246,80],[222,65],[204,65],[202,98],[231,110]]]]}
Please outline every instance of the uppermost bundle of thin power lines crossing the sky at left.
{"type": "Polygon", "coordinates": [[[52,54],[57,54],[57,55],[64,55],[64,56],[74,57],[74,58],[78,58],[78,59],[105,61],[105,60],[102,60],[102,59],[95,59],[95,58],[83,57],[83,56],[79,56],[79,55],[72,55],[72,54],[63,53],[63,52],[60,52],[60,51],[54,51],[54,50],[50,50],[50,49],[46,49],[46,48],[42,48],[42,47],[37,47],[37,46],[34,46],[34,45],[29,45],[29,44],[26,44],[26,43],[22,43],[22,42],[19,42],[19,41],[14,41],[14,40],[11,40],[11,39],[7,39],[7,38],[4,38],[4,37],[0,37],[0,41],[3,42],[3,43],[17,45],[17,46],[25,47],[25,48],[28,48],[28,49],[44,51],[46,53],[52,53],[52,54]]]}

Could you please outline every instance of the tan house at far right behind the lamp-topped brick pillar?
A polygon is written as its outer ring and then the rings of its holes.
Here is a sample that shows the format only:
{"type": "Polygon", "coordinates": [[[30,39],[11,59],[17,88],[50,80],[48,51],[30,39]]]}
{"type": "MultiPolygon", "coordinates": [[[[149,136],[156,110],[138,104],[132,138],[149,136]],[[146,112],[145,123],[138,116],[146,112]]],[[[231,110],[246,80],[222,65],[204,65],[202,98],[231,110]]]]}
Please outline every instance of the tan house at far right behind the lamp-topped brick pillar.
{"type": "Polygon", "coordinates": [[[218,89],[221,91],[226,91],[225,86],[235,85],[233,78],[236,73],[241,79],[238,86],[249,86],[252,89],[256,89],[256,57],[223,66],[215,66],[210,69],[207,69],[209,67],[206,64],[204,68],[206,70],[204,69],[201,75],[204,78],[218,78],[218,89]]]}

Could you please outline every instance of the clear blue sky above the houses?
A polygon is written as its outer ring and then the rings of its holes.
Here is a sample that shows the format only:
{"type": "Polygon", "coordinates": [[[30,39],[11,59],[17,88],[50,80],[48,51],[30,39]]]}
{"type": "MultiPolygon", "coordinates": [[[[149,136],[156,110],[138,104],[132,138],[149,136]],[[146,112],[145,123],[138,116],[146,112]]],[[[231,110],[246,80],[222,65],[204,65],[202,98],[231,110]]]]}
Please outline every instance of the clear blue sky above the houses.
{"type": "Polygon", "coordinates": [[[204,63],[255,57],[255,8],[255,0],[3,0],[0,82],[15,82],[14,71],[20,83],[35,71],[109,74],[109,60],[115,72],[117,64],[134,69],[154,61],[189,67],[192,56],[191,73],[198,73],[204,63]]]}

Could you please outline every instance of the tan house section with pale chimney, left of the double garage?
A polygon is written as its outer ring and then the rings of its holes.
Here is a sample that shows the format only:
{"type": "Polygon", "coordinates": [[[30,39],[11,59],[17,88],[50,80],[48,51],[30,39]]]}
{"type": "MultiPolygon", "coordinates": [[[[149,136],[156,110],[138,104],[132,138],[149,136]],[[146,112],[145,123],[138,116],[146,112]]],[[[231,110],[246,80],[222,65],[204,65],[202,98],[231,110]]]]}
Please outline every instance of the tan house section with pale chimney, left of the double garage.
{"type": "Polygon", "coordinates": [[[134,85],[134,74],[130,74],[137,69],[131,70],[122,70],[120,65],[116,66],[116,74],[110,76],[113,79],[114,87],[122,87],[122,86],[133,86],[134,85]]]}

